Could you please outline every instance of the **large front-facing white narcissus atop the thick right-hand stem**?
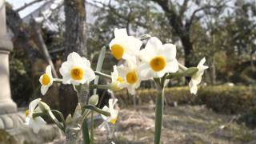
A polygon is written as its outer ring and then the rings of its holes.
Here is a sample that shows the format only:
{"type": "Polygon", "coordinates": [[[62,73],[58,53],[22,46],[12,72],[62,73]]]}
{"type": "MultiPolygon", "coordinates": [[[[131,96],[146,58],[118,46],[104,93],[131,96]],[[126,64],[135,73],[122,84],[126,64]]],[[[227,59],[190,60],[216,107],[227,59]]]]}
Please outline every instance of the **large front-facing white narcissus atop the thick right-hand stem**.
{"type": "Polygon", "coordinates": [[[162,45],[158,38],[150,38],[138,57],[142,60],[139,71],[143,79],[161,78],[166,73],[178,71],[176,46],[170,43],[162,45]]]}

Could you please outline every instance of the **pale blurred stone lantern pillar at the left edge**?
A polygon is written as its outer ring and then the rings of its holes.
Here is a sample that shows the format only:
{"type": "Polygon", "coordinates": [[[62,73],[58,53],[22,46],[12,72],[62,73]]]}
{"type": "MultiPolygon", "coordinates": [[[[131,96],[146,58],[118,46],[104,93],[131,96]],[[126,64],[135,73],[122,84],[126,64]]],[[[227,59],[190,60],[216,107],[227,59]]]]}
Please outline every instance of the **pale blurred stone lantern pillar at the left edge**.
{"type": "Polygon", "coordinates": [[[24,120],[24,116],[17,114],[16,103],[11,99],[9,54],[12,49],[6,33],[6,6],[4,0],[0,0],[0,129],[11,129],[24,120]]]}

